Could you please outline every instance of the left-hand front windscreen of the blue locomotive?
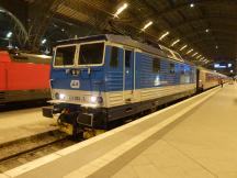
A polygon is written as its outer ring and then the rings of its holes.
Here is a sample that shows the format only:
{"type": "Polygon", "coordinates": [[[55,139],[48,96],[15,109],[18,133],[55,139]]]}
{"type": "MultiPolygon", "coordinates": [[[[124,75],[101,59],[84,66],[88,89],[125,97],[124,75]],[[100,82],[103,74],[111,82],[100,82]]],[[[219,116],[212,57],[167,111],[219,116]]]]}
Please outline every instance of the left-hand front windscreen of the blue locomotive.
{"type": "Polygon", "coordinates": [[[55,55],[55,66],[74,65],[76,46],[58,47],[55,55]]]}

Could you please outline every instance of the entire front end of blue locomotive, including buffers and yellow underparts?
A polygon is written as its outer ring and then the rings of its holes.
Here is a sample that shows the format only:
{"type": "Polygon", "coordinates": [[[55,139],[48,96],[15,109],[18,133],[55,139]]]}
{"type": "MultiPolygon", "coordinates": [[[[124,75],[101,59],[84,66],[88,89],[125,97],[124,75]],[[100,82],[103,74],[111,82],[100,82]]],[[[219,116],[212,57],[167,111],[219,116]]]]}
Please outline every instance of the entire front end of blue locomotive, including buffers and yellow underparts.
{"type": "Polygon", "coordinates": [[[78,40],[55,47],[49,101],[53,108],[43,108],[43,115],[56,116],[59,129],[70,135],[105,130],[104,43],[78,40]]]}

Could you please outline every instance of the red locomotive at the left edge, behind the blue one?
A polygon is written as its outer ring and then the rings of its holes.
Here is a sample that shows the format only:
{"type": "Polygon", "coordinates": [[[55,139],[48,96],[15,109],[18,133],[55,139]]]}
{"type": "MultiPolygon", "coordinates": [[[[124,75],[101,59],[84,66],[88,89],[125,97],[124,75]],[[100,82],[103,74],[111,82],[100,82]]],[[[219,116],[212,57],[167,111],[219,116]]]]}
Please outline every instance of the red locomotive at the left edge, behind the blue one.
{"type": "Polygon", "coordinates": [[[0,51],[0,103],[50,98],[50,56],[0,51]]]}

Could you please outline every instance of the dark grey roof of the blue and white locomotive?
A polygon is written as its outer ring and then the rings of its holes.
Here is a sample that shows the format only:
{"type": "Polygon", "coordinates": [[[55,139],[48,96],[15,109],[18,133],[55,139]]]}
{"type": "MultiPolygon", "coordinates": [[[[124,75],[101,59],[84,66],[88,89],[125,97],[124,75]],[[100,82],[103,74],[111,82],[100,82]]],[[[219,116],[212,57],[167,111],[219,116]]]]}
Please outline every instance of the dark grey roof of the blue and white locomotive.
{"type": "Polygon", "coordinates": [[[176,56],[171,57],[170,55],[168,55],[160,48],[154,47],[145,43],[137,42],[133,40],[132,37],[124,36],[124,35],[101,34],[101,35],[86,36],[86,37],[79,37],[79,38],[70,38],[70,40],[59,41],[58,43],[56,43],[56,45],[84,43],[84,42],[91,42],[91,41],[108,41],[108,42],[138,48],[147,53],[159,55],[161,57],[167,57],[167,58],[171,58],[174,60],[184,62],[183,59],[179,59],[176,56]]]}

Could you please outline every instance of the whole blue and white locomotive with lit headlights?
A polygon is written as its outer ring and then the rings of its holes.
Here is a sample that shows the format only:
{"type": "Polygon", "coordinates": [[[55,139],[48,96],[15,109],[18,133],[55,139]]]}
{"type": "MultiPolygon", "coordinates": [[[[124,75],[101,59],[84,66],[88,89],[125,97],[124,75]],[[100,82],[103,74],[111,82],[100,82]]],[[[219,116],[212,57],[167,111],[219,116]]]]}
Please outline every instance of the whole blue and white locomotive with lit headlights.
{"type": "Polygon", "coordinates": [[[44,108],[44,115],[58,115],[60,126],[77,134],[193,94],[196,67],[162,46],[88,36],[57,44],[50,87],[54,108],[44,108]]]}

